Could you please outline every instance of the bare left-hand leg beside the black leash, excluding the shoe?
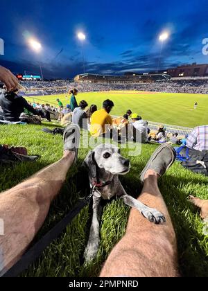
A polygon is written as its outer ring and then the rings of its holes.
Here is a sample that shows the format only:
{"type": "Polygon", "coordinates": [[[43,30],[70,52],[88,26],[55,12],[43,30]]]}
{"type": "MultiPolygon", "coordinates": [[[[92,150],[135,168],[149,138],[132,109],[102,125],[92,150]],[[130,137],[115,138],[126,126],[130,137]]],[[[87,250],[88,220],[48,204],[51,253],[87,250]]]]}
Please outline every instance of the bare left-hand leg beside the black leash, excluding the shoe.
{"type": "Polygon", "coordinates": [[[58,195],[75,152],[64,151],[60,161],[0,194],[0,274],[14,265],[42,227],[51,201],[58,195]]]}

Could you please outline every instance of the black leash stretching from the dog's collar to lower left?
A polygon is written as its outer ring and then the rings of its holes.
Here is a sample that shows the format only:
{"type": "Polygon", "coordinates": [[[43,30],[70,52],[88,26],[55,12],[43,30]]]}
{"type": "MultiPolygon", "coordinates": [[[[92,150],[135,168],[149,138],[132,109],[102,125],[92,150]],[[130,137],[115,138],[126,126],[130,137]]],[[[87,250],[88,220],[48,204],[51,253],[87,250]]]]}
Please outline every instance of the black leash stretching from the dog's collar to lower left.
{"type": "Polygon", "coordinates": [[[31,247],[31,249],[24,254],[21,259],[13,265],[10,270],[8,270],[2,277],[17,277],[21,272],[26,270],[31,263],[33,263],[48,247],[53,240],[58,238],[60,233],[67,227],[67,225],[75,218],[78,213],[90,202],[90,198],[93,195],[93,191],[91,191],[90,195],[81,200],[76,204],[76,206],[69,211],[69,213],[60,221],[58,224],[53,227],[49,232],[47,232],[38,242],[31,247]]]}

